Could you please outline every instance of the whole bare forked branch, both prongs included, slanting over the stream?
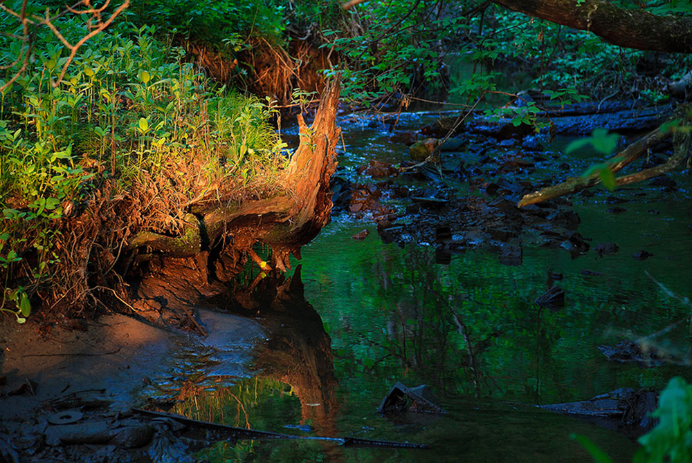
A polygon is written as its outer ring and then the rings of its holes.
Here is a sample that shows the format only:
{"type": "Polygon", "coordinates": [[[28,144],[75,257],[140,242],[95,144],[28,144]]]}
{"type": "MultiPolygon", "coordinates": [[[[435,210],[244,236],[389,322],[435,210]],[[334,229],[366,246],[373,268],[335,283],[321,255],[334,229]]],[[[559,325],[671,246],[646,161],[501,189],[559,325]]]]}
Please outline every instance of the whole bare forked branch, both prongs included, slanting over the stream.
{"type": "MultiPolygon", "coordinates": [[[[608,165],[608,169],[610,169],[612,172],[621,170],[626,165],[637,160],[637,158],[639,158],[639,156],[641,156],[643,153],[646,153],[648,149],[654,147],[659,142],[666,140],[666,138],[671,136],[671,133],[673,132],[670,124],[668,124],[668,122],[662,124],[662,126],[659,126],[658,129],[644,135],[644,137],[630,144],[630,146],[623,151],[612,156],[612,158],[610,158],[610,160],[606,163],[608,165]]],[[[684,144],[684,142],[682,144],[684,144]]],[[[687,142],[687,146],[689,146],[689,140],[687,142]]],[[[686,155],[686,150],[681,154],[676,147],[675,155],[673,155],[665,164],[634,173],[630,176],[619,177],[616,179],[616,185],[625,185],[626,183],[632,183],[660,175],[673,169],[677,166],[677,164],[680,164],[682,159],[684,159],[684,155],[686,155]],[[637,178],[639,180],[636,180],[637,178]]],[[[539,191],[534,191],[533,193],[524,195],[521,200],[519,200],[517,206],[528,206],[538,202],[557,198],[558,196],[576,193],[577,191],[581,191],[585,188],[593,187],[599,182],[601,182],[601,178],[598,172],[594,172],[590,176],[570,177],[558,185],[552,185],[551,187],[546,187],[539,191]]]]}

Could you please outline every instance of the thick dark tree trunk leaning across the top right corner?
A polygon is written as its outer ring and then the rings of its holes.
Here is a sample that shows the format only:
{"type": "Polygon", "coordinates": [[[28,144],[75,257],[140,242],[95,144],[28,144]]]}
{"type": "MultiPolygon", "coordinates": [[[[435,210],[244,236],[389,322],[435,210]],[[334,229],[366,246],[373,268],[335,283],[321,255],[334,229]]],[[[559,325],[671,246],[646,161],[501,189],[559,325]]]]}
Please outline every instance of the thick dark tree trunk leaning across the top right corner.
{"type": "Polygon", "coordinates": [[[638,50],[692,53],[692,18],[652,15],[606,0],[492,0],[554,23],[594,32],[610,44],[638,50]]]}

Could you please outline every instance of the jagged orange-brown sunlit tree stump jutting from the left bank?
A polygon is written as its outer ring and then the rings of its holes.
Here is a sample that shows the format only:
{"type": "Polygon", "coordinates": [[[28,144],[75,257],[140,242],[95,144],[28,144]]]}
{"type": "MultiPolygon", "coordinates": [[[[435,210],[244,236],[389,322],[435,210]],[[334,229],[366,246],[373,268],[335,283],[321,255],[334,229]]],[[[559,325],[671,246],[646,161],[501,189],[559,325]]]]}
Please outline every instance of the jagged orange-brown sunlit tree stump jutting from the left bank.
{"type": "Polygon", "coordinates": [[[290,268],[289,254],[300,258],[300,247],[329,223],[329,179],[336,169],[340,136],[336,125],[339,95],[340,77],[336,77],[322,94],[313,124],[308,127],[298,115],[300,146],[280,179],[284,193],[237,206],[220,201],[211,207],[191,205],[183,236],[142,231],[129,240],[129,249],[147,247],[168,256],[192,257],[228,236],[231,246],[246,252],[258,241],[270,245],[272,267],[290,268]]]}

